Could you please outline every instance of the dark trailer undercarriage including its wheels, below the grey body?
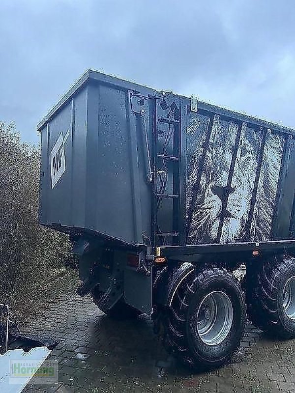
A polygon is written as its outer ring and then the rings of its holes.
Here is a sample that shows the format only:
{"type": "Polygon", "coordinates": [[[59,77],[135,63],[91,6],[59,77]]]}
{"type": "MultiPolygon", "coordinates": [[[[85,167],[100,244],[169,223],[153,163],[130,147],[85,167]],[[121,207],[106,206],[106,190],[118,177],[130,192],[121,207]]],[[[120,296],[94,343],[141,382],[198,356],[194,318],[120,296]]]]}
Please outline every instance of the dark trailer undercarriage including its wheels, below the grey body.
{"type": "Polygon", "coordinates": [[[80,254],[77,293],[91,293],[112,318],[147,313],[165,348],[185,364],[220,366],[240,344],[246,308],[258,328],[295,337],[294,243],[272,243],[160,247],[152,255],[151,248],[113,250],[89,241],[80,254]],[[192,252],[199,247],[207,253],[192,252]],[[242,262],[246,275],[238,280],[233,272],[242,262]]]}

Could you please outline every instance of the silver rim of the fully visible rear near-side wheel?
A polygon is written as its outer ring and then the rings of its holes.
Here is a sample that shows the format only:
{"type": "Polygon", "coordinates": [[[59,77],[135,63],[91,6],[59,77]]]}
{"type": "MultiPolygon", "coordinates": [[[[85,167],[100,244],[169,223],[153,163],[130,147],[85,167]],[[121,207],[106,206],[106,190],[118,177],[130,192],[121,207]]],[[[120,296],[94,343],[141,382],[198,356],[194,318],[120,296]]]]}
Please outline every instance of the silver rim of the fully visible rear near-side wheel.
{"type": "Polygon", "coordinates": [[[202,301],[196,316],[198,334],[207,345],[219,345],[233,325],[233,305],[221,291],[210,292],[202,301]]]}

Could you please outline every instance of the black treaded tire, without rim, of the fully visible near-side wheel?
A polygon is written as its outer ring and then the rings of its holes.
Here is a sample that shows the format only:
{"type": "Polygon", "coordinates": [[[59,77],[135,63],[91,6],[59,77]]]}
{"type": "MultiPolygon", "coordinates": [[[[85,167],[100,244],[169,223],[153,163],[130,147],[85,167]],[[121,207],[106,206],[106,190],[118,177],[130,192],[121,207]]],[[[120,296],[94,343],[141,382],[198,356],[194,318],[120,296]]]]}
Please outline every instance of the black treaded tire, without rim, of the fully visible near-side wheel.
{"type": "Polygon", "coordinates": [[[245,309],[240,284],[225,268],[211,266],[192,272],[177,289],[168,310],[164,322],[164,346],[195,370],[219,367],[229,361],[240,345],[246,321],[245,309]],[[196,316],[199,316],[204,299],[217,292],[230,300],[232,322],[220,343],[213,344],[212,341],[208,344],[201,337],[196,316]]]}

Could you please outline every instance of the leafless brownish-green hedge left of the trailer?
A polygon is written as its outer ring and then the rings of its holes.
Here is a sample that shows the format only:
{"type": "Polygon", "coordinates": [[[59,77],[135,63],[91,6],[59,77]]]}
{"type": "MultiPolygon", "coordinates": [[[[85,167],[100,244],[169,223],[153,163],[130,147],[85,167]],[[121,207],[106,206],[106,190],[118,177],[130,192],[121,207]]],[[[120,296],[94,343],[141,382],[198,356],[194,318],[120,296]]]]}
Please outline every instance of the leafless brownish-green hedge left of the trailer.
{"type": "Polygon", "coordinates": [[[42,287],[71,258],[67,236],[38,224],[39,163],[39,147],[0,122],[0,302],[42,287]]]}

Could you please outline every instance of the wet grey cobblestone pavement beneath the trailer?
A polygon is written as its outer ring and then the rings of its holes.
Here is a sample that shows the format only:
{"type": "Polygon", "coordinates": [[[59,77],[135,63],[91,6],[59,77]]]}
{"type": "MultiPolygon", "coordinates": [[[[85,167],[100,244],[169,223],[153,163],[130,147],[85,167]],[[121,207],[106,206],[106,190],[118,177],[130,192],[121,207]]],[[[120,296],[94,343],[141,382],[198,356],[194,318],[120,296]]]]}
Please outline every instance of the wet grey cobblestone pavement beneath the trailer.
{"type": "Polygon", "coordinates": [[[295,392],[294,341],[270,340],[250,324],[232,363],[205,374],[168,356],[147,318],[112,321],[73,290],[23,331],[59,341],[49,358],[58,382],[31,383],[26,393],[295,392]]]}

